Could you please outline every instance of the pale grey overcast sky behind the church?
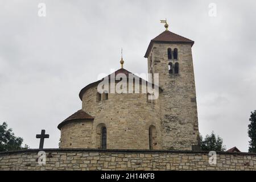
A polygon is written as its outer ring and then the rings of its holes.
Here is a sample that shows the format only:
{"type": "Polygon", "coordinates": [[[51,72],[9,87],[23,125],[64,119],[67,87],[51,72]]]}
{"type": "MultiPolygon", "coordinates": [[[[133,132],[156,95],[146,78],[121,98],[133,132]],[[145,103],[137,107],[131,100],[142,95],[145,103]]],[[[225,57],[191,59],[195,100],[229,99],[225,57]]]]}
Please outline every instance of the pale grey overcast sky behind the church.
{"type": "Polygon", "coordinates": [[[100,73],[146,73],[152,38],[169,30],[195,41],[199,131],[226,148],[248,149],[256,110],[256,1],[0,1],[0,123],[30,148],[42,129],[57,148],[57,125],[81,109],[80,90],[100,73]],[[38,4],[46,4],[46,17],[38,4]],[[216,3],[216,17],[209,4],[216,3]]]}

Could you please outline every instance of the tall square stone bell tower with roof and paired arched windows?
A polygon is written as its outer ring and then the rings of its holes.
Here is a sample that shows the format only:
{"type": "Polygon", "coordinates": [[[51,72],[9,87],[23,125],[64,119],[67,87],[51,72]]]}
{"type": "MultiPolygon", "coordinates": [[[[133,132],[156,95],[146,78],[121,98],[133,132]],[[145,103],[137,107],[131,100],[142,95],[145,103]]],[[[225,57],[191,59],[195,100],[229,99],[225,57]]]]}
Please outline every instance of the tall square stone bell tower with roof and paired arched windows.
{"type": "Polygon", "coordinates": [[[166,30],[152,39],[146,54],[148,73],[159,74],[162,147],[164,150],[199,150],[194,42],[166,30]]]}

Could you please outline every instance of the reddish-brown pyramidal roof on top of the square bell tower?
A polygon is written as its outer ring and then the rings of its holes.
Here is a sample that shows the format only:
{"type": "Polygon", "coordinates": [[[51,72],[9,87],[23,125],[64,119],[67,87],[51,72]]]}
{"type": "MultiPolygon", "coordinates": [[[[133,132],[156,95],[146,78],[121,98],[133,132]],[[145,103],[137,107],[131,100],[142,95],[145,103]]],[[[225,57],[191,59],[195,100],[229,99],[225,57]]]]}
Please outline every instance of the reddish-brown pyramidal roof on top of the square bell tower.
{"type": "Polygon", "coordinates": [[[193,42],[193,40],[184,38],[183,36],[174,34],[173,32],[166,30],[162,32],[162,34],[156,36],[156,38],[150,41],[150,44],[147,48],[147,52],[144,57],[146,58],[148,57],[151,51],[151,48],[153,46],[153,43],[187,43],[187,44],[191,44],[191,47],[192,47],[195,42],[193,42]]]}

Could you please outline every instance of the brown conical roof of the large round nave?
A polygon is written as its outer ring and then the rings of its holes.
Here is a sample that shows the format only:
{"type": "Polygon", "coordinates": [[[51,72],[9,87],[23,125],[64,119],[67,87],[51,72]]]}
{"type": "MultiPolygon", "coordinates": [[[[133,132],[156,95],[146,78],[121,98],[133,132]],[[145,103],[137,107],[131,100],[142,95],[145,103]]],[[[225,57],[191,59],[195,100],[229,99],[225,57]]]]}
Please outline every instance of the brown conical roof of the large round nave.
{"type": "MultiPolygon", "coordinates": [[[[127,78],[129,78],[129,74],[130,74],[131,72],[127,71],[126,69],[121,68],[121,69],[118,69],[117,71],[115,71],[115,72],[112,73],[112,74],[114,74],[115,76],[117,76],[119,73],[123,73],[123,74],[126,75],[127,78]]],[[[106,76],[106,77],[104,77],[104,78],[109,77],[109,79],[110,79],[110,76],[111,76],[112,74],[110,74],[110,75],[108,75],[108,76],[106,76]]],[[[133,76],[134,76],[135,78],[139,79],[140,82],[143,80],[143,81],[145,81],[146,83],[148,83],[148,81],[144,80],[144,79],[141,78],[141,77],[138,77],[138,76],[134,75],[134,73],[131,73],[131,74],[133,74],[133,76]]],[[[80,98],[80,100],[82,101],[82,96],[84,95],[84,93],[85,93],[85,91],[86,91],[87,89],[91,88],[91,87],[94,86],[94,85],[98,85],[98,83],[100,83],[101,81],[103,81],[104,78],[102,78],[101,80],[98,80],[98,81],[96,81],[96,82],[93,82],[92,84],[86,85],[84,88],[82,88],[81,91],[80,91],[80,93],[79,93],[79,98],[80,98]]],[[[154,85],[154,84],[152,84],[152,85],[154,85]]],[[[155,86],[157,86],[157,85],[155,85],[155,86]]],[[[158,86],[158,88],[159,88],[159,90],[162,90],[159,86],[158,86]]]]}

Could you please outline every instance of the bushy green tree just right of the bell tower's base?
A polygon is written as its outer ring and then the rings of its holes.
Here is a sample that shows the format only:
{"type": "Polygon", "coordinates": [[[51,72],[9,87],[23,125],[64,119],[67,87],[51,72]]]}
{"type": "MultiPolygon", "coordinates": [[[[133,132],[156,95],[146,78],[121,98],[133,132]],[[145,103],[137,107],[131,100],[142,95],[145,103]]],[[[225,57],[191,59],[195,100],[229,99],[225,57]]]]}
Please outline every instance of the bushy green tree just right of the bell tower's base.
{"type": "Polygon", "coordinates": [[[212,133],[205,138],[200,134],[201,150],[203,151],[225,151],[226,147],[222,145],[223,140],[218,135],[212,133]]]}

